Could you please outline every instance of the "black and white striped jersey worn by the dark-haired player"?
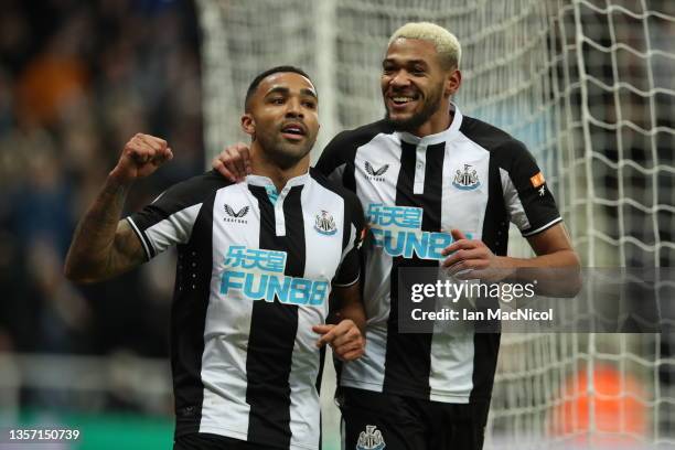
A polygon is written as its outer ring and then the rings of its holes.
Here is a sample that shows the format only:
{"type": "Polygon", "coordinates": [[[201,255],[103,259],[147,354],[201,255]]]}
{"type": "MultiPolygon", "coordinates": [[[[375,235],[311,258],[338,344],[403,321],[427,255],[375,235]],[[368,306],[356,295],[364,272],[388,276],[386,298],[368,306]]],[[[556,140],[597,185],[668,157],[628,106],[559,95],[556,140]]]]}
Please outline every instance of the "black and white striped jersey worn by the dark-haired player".
{"type": "Polygon", "coordinates": [[[128,217],[148,258],[178,245],[171,319],[176,436],[318,449],[331,285],[360,276],[355,195],[311,169],[277,193],[249,175],[179,183],[128,217]]]}

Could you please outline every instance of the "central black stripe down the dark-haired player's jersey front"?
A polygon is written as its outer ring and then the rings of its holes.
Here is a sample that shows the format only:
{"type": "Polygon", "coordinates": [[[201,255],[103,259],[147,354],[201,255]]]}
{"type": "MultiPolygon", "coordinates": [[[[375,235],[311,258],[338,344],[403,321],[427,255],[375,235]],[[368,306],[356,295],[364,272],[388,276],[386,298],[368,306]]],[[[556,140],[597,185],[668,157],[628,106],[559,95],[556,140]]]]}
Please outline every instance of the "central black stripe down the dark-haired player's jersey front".
{"type": "MultiPolygon", "coordinates": [[[[276,236],[275,211],[267,192],[249,186],[260,205],[260,248],[287,253],[287,276],[304,276],[304,225],[300,193],[292,188],[283,201],[286,236],[276,236]]],[[[298,307],[258,300],[254,302],[246,373],[246,401],[250,405],[248,440],[286,448],[290,444],[290,385],[298,307]]]]}

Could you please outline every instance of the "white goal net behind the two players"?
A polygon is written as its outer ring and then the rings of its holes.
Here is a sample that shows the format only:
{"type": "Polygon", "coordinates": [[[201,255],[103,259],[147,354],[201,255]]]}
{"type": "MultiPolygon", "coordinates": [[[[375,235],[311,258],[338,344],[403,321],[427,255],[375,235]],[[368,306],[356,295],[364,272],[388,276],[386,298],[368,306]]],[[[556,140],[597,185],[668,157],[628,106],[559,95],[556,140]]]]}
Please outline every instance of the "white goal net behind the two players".
{"type": "MultiPolygon", "coordinates": [[[[301,66],[315,81],[314,159],[336,132],[379,119],[388,36],[407,21],[431,21],[462,43],[454,101],[527,144],[585,267],[675,261],[675,2],[196,3],[208,160],[246,140],[244,93],[274,65],[301,66]]],[[[511,242],[514,254],[527,251],[516,234],[511,242]]],[[[674,344],[668,334],[505,334],[486,447],[675,444],[674,344]]],[[[330,390],[324,382],[326,398],[330,390]]],[[[331,449],[336,411],[324,406],[331,449]]]]}

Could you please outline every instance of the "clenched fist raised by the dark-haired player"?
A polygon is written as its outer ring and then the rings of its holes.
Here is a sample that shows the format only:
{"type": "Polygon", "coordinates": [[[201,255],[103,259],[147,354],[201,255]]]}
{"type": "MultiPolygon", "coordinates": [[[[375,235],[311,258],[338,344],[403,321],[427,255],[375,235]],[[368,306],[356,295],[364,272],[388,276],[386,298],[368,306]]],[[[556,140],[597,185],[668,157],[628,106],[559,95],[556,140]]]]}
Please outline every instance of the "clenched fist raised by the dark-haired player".
{"type": "Polygon", "coordinates": [[[173,158],[167,141],[150,135],[137,133],[127,142],[110,175],[121,182],[131,182],[154,172],[173,158]]]}

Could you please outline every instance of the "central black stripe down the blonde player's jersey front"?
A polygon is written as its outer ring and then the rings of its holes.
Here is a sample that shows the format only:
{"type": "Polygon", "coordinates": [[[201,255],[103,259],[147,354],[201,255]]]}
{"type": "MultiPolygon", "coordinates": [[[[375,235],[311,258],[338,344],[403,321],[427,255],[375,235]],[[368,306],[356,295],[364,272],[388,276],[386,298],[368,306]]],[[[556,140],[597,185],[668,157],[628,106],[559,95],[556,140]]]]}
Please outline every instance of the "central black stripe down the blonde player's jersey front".
{"type": "MultiPolygon", "coordinates": [[[[401,143],[400,172],[396,184],[396,205],[424,208],[422,229],[440,231],[442,170],[446,144],[429,146],[426,150],[425,190],[414,194],[416,147],[401,143]]],[[[398,333],[398,269],[401,267],[438,267],[436,260],[395,257],[392,261],[392,306],[387,322],[387,350],[383,390],[429,396],[431,367],[431,333],[398,333]]]]}

